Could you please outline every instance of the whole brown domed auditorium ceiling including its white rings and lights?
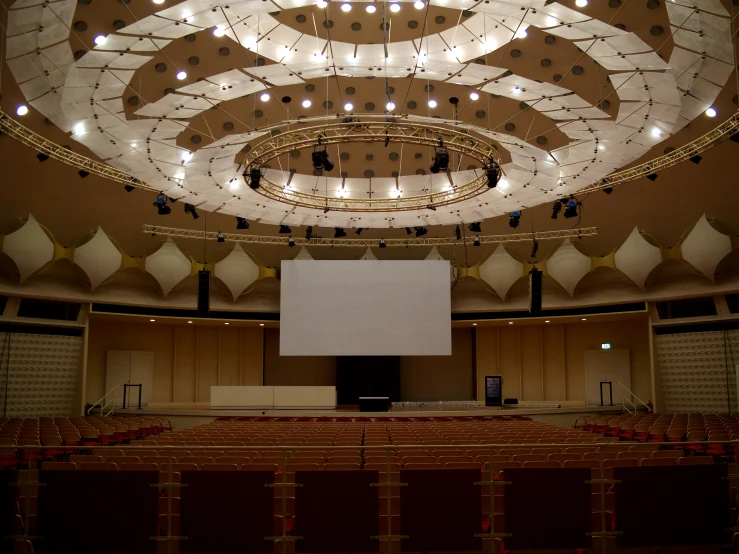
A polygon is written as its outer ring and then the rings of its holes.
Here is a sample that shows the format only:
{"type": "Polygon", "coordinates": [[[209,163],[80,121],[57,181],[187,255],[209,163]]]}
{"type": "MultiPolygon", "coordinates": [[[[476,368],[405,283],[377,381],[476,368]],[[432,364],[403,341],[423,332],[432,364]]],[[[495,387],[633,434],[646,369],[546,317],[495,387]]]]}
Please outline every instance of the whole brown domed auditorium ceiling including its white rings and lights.
{"type": "MultiPolygon", "coordinates": [[[[728,140],[702,153],[700,163],[665,169],[656,180],[578,195],[736,113],[739,1],[581,3],[10,2],[3,15],[3,112],[146,186],[127,192],[94,172],[81,178],[77,168],[53,158],[40,163],[38,150],[0,136],[0,232],[17,230],[33,214],[63,246],[80,246],[101,227],[134,257],[152,254],[164,240],[143,233],[144,224],[271,236],[282,224],[301,238],[309,225],[321,237],[333,236],[335,227],[356,237],[361,227],[362,239],[377,241],[405,238],[404,228],[416,226],[427,227],[430,237],[452,236],[455,224],[466,230],[477,221],[481,236],[597,227],[597,236],[576,241],[590,257],[612,253],[635,227],[654,245],[676,247],[704,214],[719,232],[739,235],[739,144],[728,140]],[[28,112],[17,115],[19,106],[28,112]],[[461,130],[491,145],[502,171],[498,185],[450,197],[434,210],[319,209],[326,198],[332,206],[377,199],[392,207],[398,197],[445,188],[453,194],[484,176],[480,160],[451,150],[449,172],[432,174],[434,147],[400,140],[331,144],[335,167],[320,175],[311,163],[315,145],[287,148],[261,166],[266,181],[284,187],[282,198],[251,190],[241,175],[263,141],[388,119],[461,130]],[[157,192],[169,198],[171,214],[157,214],[157,192]],[[296,203],[297,193],[315,205],[296,203]],[[552,219],[553,202],[570,195],[581,202],[578,216],[552,219]],[[185,213],[186,203],[198,219],[185,213]],[[515,230],[512,211],[521,212],[515,230]],[[248,230],[236,230],[236,216],[248,220],[248,230]]],[[[204,253],[203,241],[175,242],[201,262],[233,248],[209,241],[204,253]]],[[[561,244],[540,241],[536,260],[561,244]]],[[[534,261],[530,242],[506,248],[520,262],[534,261]]],[[[244,249],[263,267],[299,250],[244,249]]],[[[416,259],[429,249],[373,252],[416,259]]],[[[439,251],[457,265],[462,259],[475,265],[494,249],[460,244],[439,251]]],[[[308,250],[316,259],[358,259],[366,248],[308,250]]],[[[736,258],[734,249],[721,268],[735,271],[736,258]]],[[[6,256],[2,267],[7,279],[17,274],[6,256]]],[[[77,269],[50,272],[84,282],[77,269]]],[[[682,270],[666,264],[658,271],[668,278],[682,270]]],[[[597,288],[610,278],[596,272],[582,286],[597,288]]]]}

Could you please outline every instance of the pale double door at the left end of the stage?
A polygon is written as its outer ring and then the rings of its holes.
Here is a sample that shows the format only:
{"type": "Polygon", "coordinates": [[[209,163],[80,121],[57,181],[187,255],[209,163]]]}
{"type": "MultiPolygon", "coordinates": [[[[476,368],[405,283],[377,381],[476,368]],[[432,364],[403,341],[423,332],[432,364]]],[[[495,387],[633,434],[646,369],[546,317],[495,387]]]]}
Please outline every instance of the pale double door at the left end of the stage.
{"type": "MultiPolygon", "coordinates": [[[[123,350],[108,350],[108,362],[105,374],[105,390],[112,390],[113,406],[123,407],[124,383],[141,385],[141,406],[146,406],[151,399],[151,389],[154,374],[153,352],[130,352],[123,350]]],[[[138,388],[129,388],[126,397],[126,407],[138,406],[138,388]]],[[[110,401],[109,398],[106,402],[110,401]]]]}

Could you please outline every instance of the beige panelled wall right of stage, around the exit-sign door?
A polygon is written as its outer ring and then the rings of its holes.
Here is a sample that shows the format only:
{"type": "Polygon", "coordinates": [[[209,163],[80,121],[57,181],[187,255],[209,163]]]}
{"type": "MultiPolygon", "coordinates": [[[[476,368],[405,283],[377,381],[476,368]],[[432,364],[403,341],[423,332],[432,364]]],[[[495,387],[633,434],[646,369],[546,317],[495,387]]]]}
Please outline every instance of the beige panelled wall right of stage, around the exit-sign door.
{"type": "MultiPolygon", "coordinates": [[[[477,399],[485,375],[503,376],[503,396],[519,400],[585,401],[585,351],[630,351],[631,388],[652,398],[649,324],[638,320],[477,327],[477,399]]],[[[614,401],[616,391],[614,390],[614,401]]]]}

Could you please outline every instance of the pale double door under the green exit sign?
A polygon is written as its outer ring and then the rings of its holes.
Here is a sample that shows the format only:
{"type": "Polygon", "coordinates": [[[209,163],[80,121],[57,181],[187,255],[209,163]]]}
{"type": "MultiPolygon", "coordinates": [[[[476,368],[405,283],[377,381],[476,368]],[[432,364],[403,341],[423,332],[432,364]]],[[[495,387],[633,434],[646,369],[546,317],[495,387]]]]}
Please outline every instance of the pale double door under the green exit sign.
{"type": "MultiPolygon", "coordinates": [[[[585,351],[585,403],[600,406],[601,382],[613,387],[613,404],[621,405],[623,387],[631,390],[631,361],[628,348],[585,351]]],[[[603,404],[610,404],[609,386],[603,385],[603,404]]]]}

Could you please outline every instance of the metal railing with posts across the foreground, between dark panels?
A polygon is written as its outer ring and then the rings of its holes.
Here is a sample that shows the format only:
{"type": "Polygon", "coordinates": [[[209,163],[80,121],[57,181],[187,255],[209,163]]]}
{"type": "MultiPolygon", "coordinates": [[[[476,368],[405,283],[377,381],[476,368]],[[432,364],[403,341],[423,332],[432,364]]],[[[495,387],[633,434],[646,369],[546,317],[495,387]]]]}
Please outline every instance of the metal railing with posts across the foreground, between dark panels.
{"type": "MultiPolygon", "coordinates": [[[[151,540],[154,541],[162,541],[166,542],[167,548],[166,552],[167,554],[174,554],[175,549],[173,549],[173,545],[175,541],[183,541],[187,540],[187,537],[181,536],[180,534],[173,534],[173,524],[172,524],[172,517],[174,514],[172,510],[173,506],[173,499],[175,498],[174,491],[179,490],[181,487],[187,486],[186,484],[182,484],[179,481],[175,480],[174,473],[179,473],[178,471],[174,470],[174,464],[177,463],[177,458],[175,457],[175,453],[177,451],[188,451],[188,452],[202,452],[207,453],[209,451],[218,451],[219,449],[227,448],[229,451],[254,451],[254,450],[270,450],[270,451],[284,451],[286,453],[292,453],[292,452],[298,452],[301,450],[331,450],[331,451],[339,451],[339,450],[364,450],[366,451],[381,451],[386,454],[386,471],[385,471],[385,478],[382,479],[382,476],[378,479],[377,483],[372,484],[372,486],[379,487],[379,488],[387,488],[387,534],[386,535],[379,535],[376,537],[372,537],[374,539],[377,539],[381,542],[399,542],[403,539],[407,539],[407,536],[404,535],[393,535],[393,526],[392,526],[392,516],[393,516],[393,509],[392,509],[392,489],[399,490],[400,487],[407,486],[407,483],[402,483],[400,480],[394,481],[392,480],[391,474],[394,472],[392,471],[393,468],[398,467],[397,460],[394,458],[394,451],[399,449],[418,449],[423,448],[426,450],[434,450],[434,449],[449,449],[449,448],[455,448],[455,449],[476,449],[476,450],[489,450],[490,456],[495,455],[497,452],[497,449],[499,448],[573,448],[573,447],[613,447],[616,445],[623,445],[623,446],[631,446],[635,444],[645,444],[645,443],[638,443],[638,442],[625,442],[625,441],[619,441],[619,442],[584,442],[584,443],[552,443],[552,444],[545,444],[545,443],[526,443],[522,442],[519,444],[514,443],[503,443],[503,444],[497,444],[497,443],[490,443],[490,444],[469,444],[469,445],[449,445],[449,444],[440,444],[440,445],[419,445],[419,444],[408,444],[408,445],[377,445],[377,446],[364,446],[364,445],[356,445],[356,446],[335,446],[335,445],[326,445],[326,446],[320,446],[320,445],[297,445],[297,446],[290,446],[290,445],[244,445],[244,446],[226,446],[226,447],[218,447],[218,446],[167,446],[166,444],[162,445],[156,445],[154,446],[147,446],[147,445],[141,445],[141,446],[135,446],[135,445],[114,445],[114,446],[97,446],[97,445],[83,445],[83,446],[53,446],[53,447],[45,447],[45,446],[12,446],[12,445],[0,445],[0,453],[8,450],[16,451],[19,455],[19,459],[24,459],[26,456],[23,455],[24,452],[30,452],[38,453],[43,450],[53,449],[53,450],[65,450],[68,452],[72,451],[87,451],[89,452],[92,448],[99,448],[99,449],[105,449],[105,448],[112,448],[115,450],[124,450],[127,452],[135,452],[137,450],[151,450],[152,448],[155,448],[158,451],[165,451],[165,452],[171,452],[170,454],[170,462],[167,464],[167,467],[165,469],[166,471],[166,482],[160,482],[161,479],[159,479],[156,483],[151,483],[151,487],[158,488],[160,490],[166,490],[166,497],[167,497],[167,513],[166,514],[159,514],[161,517],[162,515],[166,515],[167,518],[167,529],[166,529],[166,535],[157,535],[150,537],[151,540]]],[[[739,456],[737,454],[739,453],[739,440],[730,440],[730,441],[682,441],[682,442],[652,442],[648,443],[653,446],[668,446],[671,448],[677,448],[680,446],[695,446],[695,445],[724,445],[725,451],[727,452],[727,459],[734,465],[734,473],[733,475],[729,475],[728,480],[729,481],[737,481],[739,480],[739,456]]],[[[166,456],[165,456],[166,457],[166,456]]],[[[258,458],[257,458],[258,459],[258,458]]],[[[492,458],[491,458],[492,460],[492,458]]],[[[601,530],[600,531],[592,531],[589,532],[588,535],[591,536],[594,539],[601,539],[602,541],[602,550],[604,554],[609,551],[609,545],[608,545],[608,539],[613,538],[620,534],[619,531],[615,530],[609,530],[609,526],[607,523],[607,510],[606,510],[606,493],[608,492],[608,489],[619,483],[619,481],[616,481],[614,478],[609,478],[606,475],[606,467],[604,465],[605,457],[600,458],[598,460],[598,468],[593,468],[591,470],[592,475],[597,475],[595,478],[590,478],[586,481],[587,485],[597,485],[598,492],[596,494],[600,497],[600,525],[601,530]],[[595,473],[598,472],[598,473],[595,473]]],[[[290,535],[287,530],[287,519],[288,516],[291,515],[288,513],[287,510],[287,494],[289,488],[295,488],[296,486],[301,487],[302,484],[295,483],[295,473],[292,473],[292,479],[293,481],[288,481],[289,477],[289,468],[288,468],[288,456],[283,456],[281,459],[281,462],[279,464],[279,470],[275,473],[275,483],[273,486],[276,490],[281,491],[279,495],[279,500],[281,500],[281,517],[282,517],[282,534],[277,536],[270,536],[265,537],[266,540],[273,541],[275,544],[282,544],[282,553],[287,554],[287,543],[288,542],[294,542],[296,540],[299,540],[301,537],[290,535]]],[[[491,470],[493,469],[491,465],[491,470]]],[[[33,467],[33,464],[28,462],[28,468],[27,470],[19,470],[18,471],[18,482],[17,483],[11,483],[11,486],[16,486],[19,488],[19,491],[22,489],[25,493],[25,496],[23,496],[23,493],[19,493],[20,501],[25,506],[25,513],[22,514],[23,518],[23,533],[21,535],[12,535],[10,539],[15,540],[16,542],[21,542],[22,547],[16,551],[21,551],[23,554],[33,554],[34,547],[32,544],[32,540],[36,539],[42,539],[43,537],[32,535],[30,534],[30,517],[31,515],[31,492],[33,487],[42,487],[45,486],[44,483],[42,483],[39,480],[40,474],[34,475],[35,468],[33,467]],[[26,475],[26,480],[21,479],[21,475],[26,475]]],[[[84,471],[84,470],[81,470],[84,471]]],[[[357,470],[357,471],[364,471],[364,470],[357,470]]],[[[0,472],[1,474],[2,472],[0,472]]],[[[397,472],[395,472],[397,473],[397,472]]],[[[485,473],[483,472],[481,477],[485,477],[485,473]]],[[[480,487],[487,487],[488,488],[488,496],[489,496],[489,532],[485,533],[478,533],[475,534],[475,537],[481,538],[481,539],[487,539],[490,541],[490,548],[489,551],[491,553],[497,552],[497,542],[500,542],[505,537],[510,536],[507,533],[501,532],[499,529],[496,532],[495,526],[495,515],[496,515],[496,507],[495,507],[495,492],[496,488],[503,487],[505,485],[509,485],[510,483],[508,481],[502,480],[502,479],[496,479],[494,475],[490,474],[488,476],[487,480],[480,480],[478,482],[474,483],[476,486],[480,487]]],[[[270,486],[270,485],[266,485],[270,486]]],[[[482,494],[482,489],[481,489],[482,494]]],[[[21,504],[19,504],[20,506],[21,504]]],[[[597,512],[596,512],[597,513],[597,512]]],[[[278,514],[274,514],[278,515],[278,514]]],[[[382,514],[380,514],[380,517],[384,517],[382,514]]],[[[739,531],[739,520],[734,522],[734,525],[727,529],[727,531],[733,531],[737,532],[739,531]]],[[[483,545],[484,546],[484,545],[483,545]]],[[[658,545],[655,545],[658,546],[658,545]]],[[[483,549],[483,551],[488,549],[483,549]]]]}

